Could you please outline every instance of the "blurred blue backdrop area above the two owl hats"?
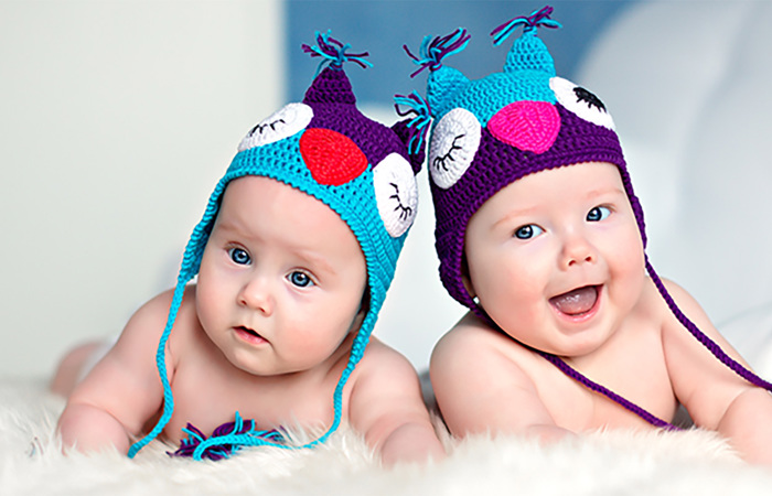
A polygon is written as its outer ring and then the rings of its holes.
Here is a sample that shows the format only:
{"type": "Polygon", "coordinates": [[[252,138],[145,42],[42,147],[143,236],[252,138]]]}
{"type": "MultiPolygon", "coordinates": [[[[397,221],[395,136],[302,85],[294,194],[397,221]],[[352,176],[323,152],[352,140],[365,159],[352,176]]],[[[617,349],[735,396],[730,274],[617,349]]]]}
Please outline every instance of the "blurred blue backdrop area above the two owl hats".
{"type": "MultiPolygon", "coordinates": [[[[422,89],[426,72],[410,80],[417,68],[403,50],[414,54],[425,35],[444,35],[465,28],[472,35],[467,50],[453,55],[449,65],[463,67],[470,78],[501,71],[511,41],[493,46],[491,31],[512,18],[527,15],[549,4],[559,32],[542,30],[559,74],[569,79],[598,33],[636,1],[558,0],[288,0],[287,78],[290,100],[303,97],[312,73],[301,44],[315,44],[313,33],[332,30],[333,37],[351,43],[352,53],[368,52],[367,71],[353,68],[349,77],[358,101],[366,106],[390,105],[395,93],[422,89]]],[[[518,31],[519,32],[519,31],[518,31]]],[[[517,35],[517,34],[515,34],[517,35]]],[[[318,58],[314,60],[314,64],[318,58]]],[[[422,93],[422,91],[421,91],[422,93]]]]}

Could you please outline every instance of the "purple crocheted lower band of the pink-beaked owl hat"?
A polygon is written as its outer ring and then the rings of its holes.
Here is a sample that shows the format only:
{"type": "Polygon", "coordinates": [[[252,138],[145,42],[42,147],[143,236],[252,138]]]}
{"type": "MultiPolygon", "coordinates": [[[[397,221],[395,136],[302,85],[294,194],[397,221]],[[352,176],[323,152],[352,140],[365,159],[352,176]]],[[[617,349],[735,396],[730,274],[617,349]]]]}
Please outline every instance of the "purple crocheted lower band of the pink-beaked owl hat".
{"type": "Polygon", "coordinates": [[[467,225],[472,215],[504,186],[535,172],[582,162],[609,162],[619,168],[645,245],[643,209],[635,196],[622,148],[614,131],[588,122],[557,104],[560,131],[544,153],[522,151],[482,129],[480,147],[469,170],[448,190],[431,182],[437,224],[435,247],[442,284],[461,304],[479,311],[463,285],[462,260],[467,225]]]}

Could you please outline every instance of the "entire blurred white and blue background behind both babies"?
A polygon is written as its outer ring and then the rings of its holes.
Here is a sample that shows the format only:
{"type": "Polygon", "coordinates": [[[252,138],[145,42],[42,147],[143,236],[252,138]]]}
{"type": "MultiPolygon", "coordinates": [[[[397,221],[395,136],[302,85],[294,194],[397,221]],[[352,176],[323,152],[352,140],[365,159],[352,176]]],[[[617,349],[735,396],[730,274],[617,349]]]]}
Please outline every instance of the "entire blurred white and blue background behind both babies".
{"type": "MultiPolygon", "coordinates": [[[[772,4],[551,1],[540,37],[559,75],[616,121],[643,203],[648,256],[730,337],[772,323],[772,4]]],[[[0,0],[0,375],[50,374],[173,285],[180,257],[243,134],[300,100],[332,30],[373,68],[346,66],[362,110],[423,93],[403,51],[458,26],[448,65],[500,71],[489,33],[543,1],[0,0]]],[[[422,369],[463,314],[441,288],[426,171],[375,334],[422,369]]],[[[755,337],[754,337],[755,338],[755,337]]],[[[743,341],[744,339],[744,341],[743,341]]],[[[751,339],[752,341],[752,339],[751,339]]],[[[758,344],[758,339],[757,339],[758,344]]],[[[752,351],[755,345],[746,344],[752,351]]],[[[742,347],[742,346],[741,346],[742,347]]]]}

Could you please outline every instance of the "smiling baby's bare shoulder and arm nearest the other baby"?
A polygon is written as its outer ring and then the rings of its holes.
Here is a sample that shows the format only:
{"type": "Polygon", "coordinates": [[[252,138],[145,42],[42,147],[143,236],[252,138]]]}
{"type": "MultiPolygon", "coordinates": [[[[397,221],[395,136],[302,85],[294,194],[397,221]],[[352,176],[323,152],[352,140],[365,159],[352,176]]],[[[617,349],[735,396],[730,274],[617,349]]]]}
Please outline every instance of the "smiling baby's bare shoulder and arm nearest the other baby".
{"type": "Polygon", "coordinates": [[[431,356],[431,384],[454,435],[506,432],[545,441],[572,435],[555,423],[530,377],[502,352],[507,348],[529,359],[525,348],[515,346],[512,338],[471,314],[437,344],[431,356]]]}

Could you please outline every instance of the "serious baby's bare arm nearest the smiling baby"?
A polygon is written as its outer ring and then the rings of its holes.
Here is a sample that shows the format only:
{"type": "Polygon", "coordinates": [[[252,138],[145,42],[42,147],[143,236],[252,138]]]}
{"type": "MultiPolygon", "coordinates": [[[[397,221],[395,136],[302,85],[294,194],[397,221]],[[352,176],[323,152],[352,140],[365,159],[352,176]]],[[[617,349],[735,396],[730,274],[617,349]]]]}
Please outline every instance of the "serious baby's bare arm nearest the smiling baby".
{"type": "Polygon", "coordinates": [[[441,460],[444,450],[423,405],[418,376],[397,352],[373,339],[357,365],[350,420],[385,465],[441,460]]]}

